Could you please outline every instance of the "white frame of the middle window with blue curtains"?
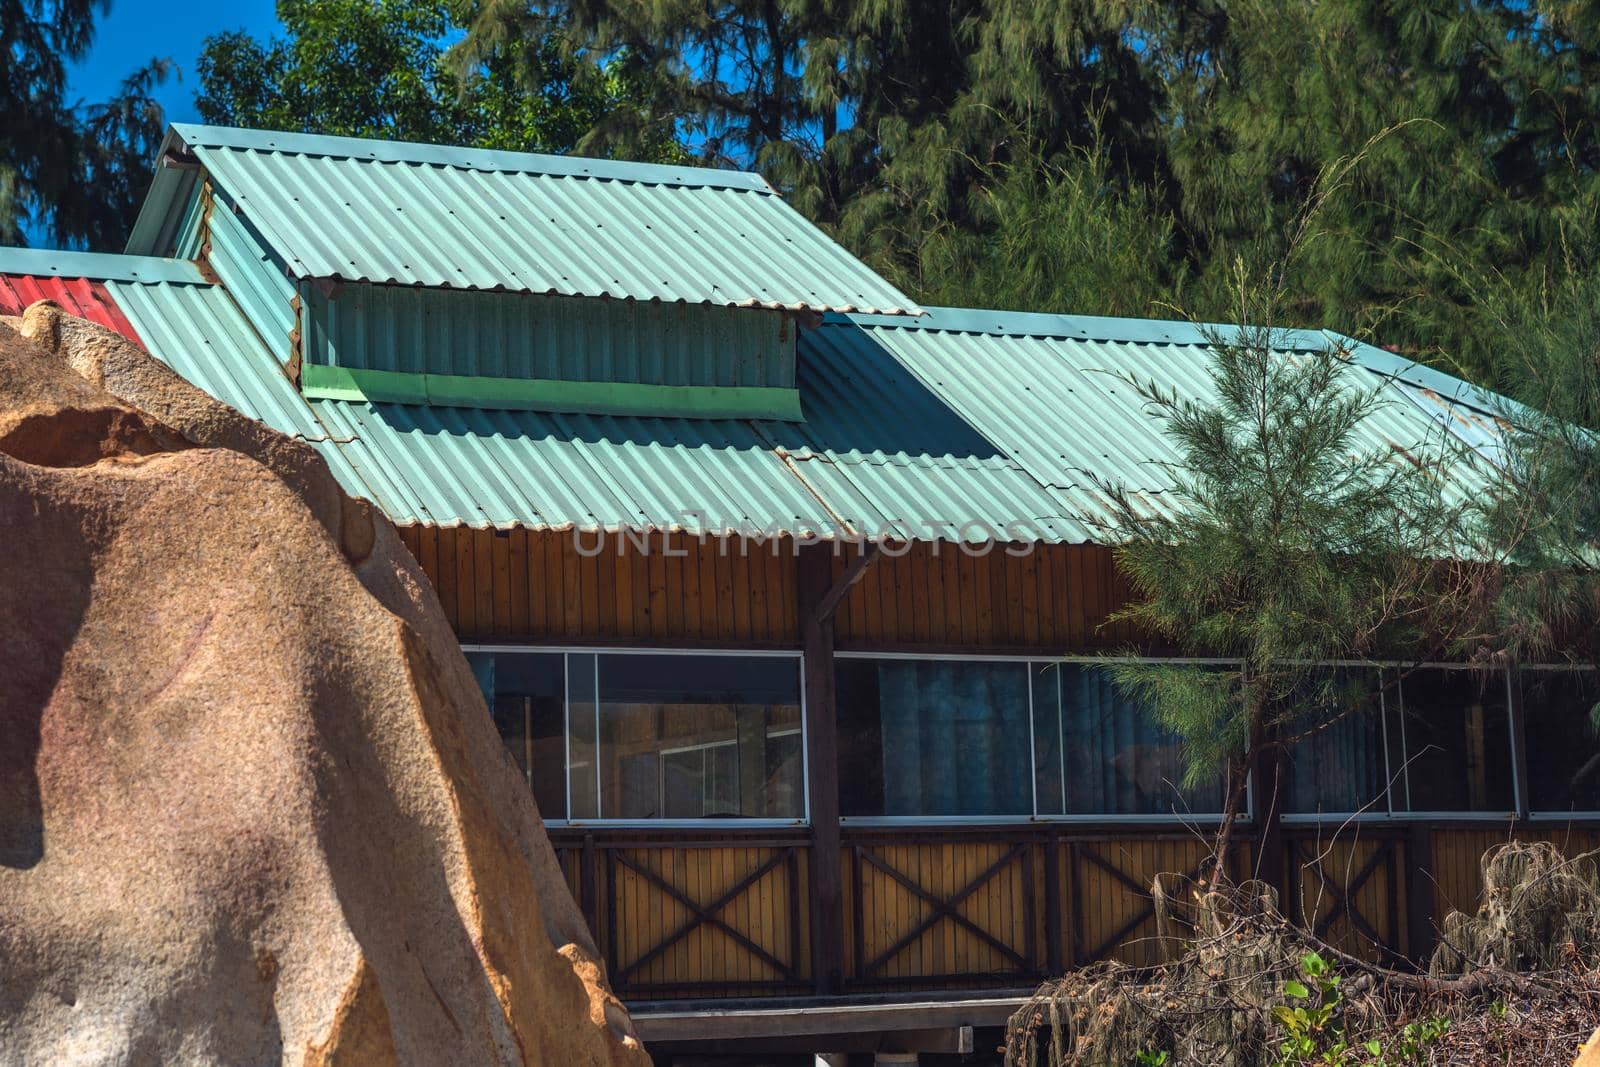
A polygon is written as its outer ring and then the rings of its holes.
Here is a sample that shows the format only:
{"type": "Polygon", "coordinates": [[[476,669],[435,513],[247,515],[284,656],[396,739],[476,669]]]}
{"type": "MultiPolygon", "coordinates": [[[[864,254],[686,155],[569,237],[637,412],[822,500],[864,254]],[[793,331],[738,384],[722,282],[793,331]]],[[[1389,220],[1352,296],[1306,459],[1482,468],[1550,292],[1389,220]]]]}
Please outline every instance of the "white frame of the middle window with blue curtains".
{"type": "MultiPolygon", "coordinates": [[[[1240,661],[1205,656],[1006,656],[1003,653],[914,653],[914,651],[864,651],[838,649],[834,659],[912,659],[912,661],[946,661],[946,662],[1014,662],[1053,667],[1058,664],[1098,664],[1107,662],[1141,662],[1141,664],[1197,664],[1197,665],[1237,665],[1240,661]]],[[[1221,822],[1222,813],[1190,813],[1190,814],[1040,814],[1038,813],[1038,779],[1032,763],[1037,760],[1037,744],[1034,736],[1034,683],[1027,685],[1027,749],[1029,749],[1029,797],[1032,814],[1019,816],[840,816],[843,827],[965,827],[965,825],[1208,825],[1221,822]]],[[[1245,821],[1254,819],[1254,782],[1245,789],[1245,821]]]]}

